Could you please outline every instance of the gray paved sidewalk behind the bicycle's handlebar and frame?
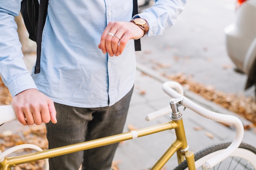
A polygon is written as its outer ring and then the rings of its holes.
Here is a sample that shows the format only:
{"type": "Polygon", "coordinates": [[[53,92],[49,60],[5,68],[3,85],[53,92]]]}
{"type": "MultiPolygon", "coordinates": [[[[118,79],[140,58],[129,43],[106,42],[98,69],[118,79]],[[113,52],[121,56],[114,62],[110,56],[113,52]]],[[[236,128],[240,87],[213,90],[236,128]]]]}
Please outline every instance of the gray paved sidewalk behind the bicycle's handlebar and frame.
{"type": "MultiPolygon", "coordinates": [[[[167,80],[158,75],[157,72],[149,70],[139,63],[137,64],[135,89],[132,95],[124,132],[128,132],[128,127],[130,126],[139,129],[170,121],[169,115],[150,122],[145,120],[148,113],[152,113],[169,105],[170,97],[162,91],[162,83],[165,81],[167,80]]],[[[184,95],[204,108],[219,113],[235,115],[221,106],[205,101],[205,99],[190,91],[184,91],[184,95]]],[[[197,152],[207,146],[232,141],[234,139],[234,128],[228,128],[218,122],[205,119],[189,109],[185,111],[182,109],[183,107],[180,107],[180,111],[183,113],[184,126],[191,151],[197,152]]],[[[239,118],[244,125],[250,124],[249,121],[242,117],[239,118]]],[[[145,168],[152,167],[157,159],[159,159],[171,145],[172,141],[175,139],[174,135],[174,130],[169,130],[124,141],[119,145],[114,161],[118,163],[120,170],[144,170],[145,168]]],[[[256,132],[254,130],[245,131],[243,142],[256,146],[255,141],[256,132]]],[[[166,164],[165,167],[168,170],[177,166],[175,157],[166,164]]]]}

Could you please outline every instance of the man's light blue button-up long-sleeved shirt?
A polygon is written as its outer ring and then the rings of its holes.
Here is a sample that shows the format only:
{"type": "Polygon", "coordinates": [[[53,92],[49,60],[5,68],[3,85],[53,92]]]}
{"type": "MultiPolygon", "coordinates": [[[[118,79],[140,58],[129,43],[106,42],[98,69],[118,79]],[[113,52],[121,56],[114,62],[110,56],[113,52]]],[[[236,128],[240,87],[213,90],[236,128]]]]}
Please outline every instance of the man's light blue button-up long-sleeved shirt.
{"type": "MultiPolygon", "coordinates": [[[[161,35],[173,25],[186,0],[156,0],[139,14],[148,21],[148,36],[161,35]]],[[[0,73],[12,96],[36,88],[54,102],[95,108],[111,106],[135,81],[135,49],[110,57],[98,49],[110,21],[130,21],[132,0],[49,0],[43,30],[41,71],[29,73],[22,60],[14,16],[20,0],[0,0],[0,73]]]]}

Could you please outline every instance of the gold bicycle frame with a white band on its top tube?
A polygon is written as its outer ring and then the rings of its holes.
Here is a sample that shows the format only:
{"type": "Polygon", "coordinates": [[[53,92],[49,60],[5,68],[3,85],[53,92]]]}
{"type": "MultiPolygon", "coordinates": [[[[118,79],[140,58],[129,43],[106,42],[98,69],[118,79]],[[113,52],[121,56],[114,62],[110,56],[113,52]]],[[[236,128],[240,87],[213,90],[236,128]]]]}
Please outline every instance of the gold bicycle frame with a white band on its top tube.
{"type": "Polygon", "coordinates": [[[134,139],[134,134],[137,137],[142,137],[150,135],[157,132],[162,132],[164,130],[175,129],[175,134],[177,139],[173,141],[171,146],[166,150],[162,157],[155,163],[151,170],[161,170],[164,164],[177,152],[178,163],[181,163],[186,158],[189,170],[195,170],[194,154],[188,150],[188,145],[186,141],[186,135],[184,131],[183,121],[173,120],[164,124],[159,124],[156,126],[151,126],[148,128],[143,128],[139,130],[133,130],[130,132],[121,133],[118,135],[112,135],[109,137],[103,137],[100,139],[94,139],[91,141],[82,142],[79,144],[72,144],[68,146],[62,146],[59,148],[48,149],[40,152],[34,152],[30,154],[25,154],[16,157],[7,157],[4,161],[0,162],[0,170],[11,170],[11,167],[29,163],[33,161],[38,161],[41,159],[47,159],[52,157],[57,157],[73,152],[78,152],[81,150],[88,150],[92,148],[97,148],[100,146],[106,146],[121,141],[126,141],[129,139],[134,139]],[[184,158],[185,157],[185,158],[184,158]]]}

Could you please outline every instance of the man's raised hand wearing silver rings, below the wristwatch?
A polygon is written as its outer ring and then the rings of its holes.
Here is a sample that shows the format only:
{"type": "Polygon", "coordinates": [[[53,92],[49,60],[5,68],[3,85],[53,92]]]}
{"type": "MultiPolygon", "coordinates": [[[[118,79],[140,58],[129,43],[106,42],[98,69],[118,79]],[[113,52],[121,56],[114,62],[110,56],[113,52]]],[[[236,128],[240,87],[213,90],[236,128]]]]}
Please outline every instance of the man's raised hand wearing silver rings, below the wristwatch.
{"type": "Polygon", "coordinates": [[[110,22],[101,35],[98,47],[104,54],[108,53],[111,57],[118,56],[124,51],[124,47],[130,39],[137,40],[143,35],[144,31],[131,22],[110,22]],[[116,36],[108,35],[108,33],[116,36]]]}

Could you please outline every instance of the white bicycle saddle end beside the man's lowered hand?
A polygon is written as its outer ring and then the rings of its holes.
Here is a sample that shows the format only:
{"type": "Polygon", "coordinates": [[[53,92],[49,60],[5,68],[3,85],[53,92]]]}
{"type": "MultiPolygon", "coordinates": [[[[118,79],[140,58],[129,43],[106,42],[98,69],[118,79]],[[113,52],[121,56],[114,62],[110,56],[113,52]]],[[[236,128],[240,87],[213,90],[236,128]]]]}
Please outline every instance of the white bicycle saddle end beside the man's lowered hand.
{"type": "Polygon", "coordinates": [[[14,119],[17,117],[11,105],[0,106],[0,125],[14,119]]]}

